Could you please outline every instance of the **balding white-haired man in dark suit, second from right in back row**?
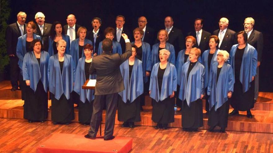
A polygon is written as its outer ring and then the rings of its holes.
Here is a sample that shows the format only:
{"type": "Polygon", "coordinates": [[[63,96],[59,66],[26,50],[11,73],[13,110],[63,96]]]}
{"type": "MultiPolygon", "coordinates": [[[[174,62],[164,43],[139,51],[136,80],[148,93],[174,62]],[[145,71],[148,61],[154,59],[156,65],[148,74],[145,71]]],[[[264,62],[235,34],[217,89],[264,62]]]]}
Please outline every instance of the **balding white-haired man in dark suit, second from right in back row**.
{"type": "Polygon", "coordinates": [[[219,28],[213,32],[213,35],[218,36],[220,42],[218,44],[219,49],[226,50],[228,53],[233,45],[238,44],[236,32],[228,29],[228,19],[221,18],[219,21],[219,28]]]}

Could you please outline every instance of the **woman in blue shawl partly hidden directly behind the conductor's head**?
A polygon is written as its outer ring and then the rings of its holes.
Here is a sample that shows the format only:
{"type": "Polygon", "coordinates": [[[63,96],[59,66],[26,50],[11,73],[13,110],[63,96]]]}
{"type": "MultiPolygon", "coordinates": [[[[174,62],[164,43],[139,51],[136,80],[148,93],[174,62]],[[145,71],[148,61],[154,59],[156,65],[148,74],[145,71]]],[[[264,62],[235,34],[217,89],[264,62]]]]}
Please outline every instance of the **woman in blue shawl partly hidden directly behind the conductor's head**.
{"type": "MultiPolygon", "coordinates": [[[[115,53],[119,53],[119,55],[122,54],[122,49],[121,49],[121,45],[119,42],[113,40],[114,39],[114,34],[115,34],[115,29],[112,27],[108,27],[104,30],[104,35],[105,38],[110,38],[112,40],[112,54],[115,53]]],[[[102,41],[99,44],[99,49],[98,49],[98,55],[102,54],[103,50],[102,50],[102,41]]]]}

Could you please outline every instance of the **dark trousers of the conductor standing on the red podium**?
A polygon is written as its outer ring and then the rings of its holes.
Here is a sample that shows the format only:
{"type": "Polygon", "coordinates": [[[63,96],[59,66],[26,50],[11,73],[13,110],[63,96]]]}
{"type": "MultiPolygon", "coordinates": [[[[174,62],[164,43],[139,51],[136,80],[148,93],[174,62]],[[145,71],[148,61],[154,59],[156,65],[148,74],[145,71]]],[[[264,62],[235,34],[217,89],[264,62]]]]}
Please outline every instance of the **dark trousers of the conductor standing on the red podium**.
{"type": "Polygon", "coordinates": [[[90,122],[90,129],[88,135],[91,137],[96,137],[99,130],[99,126],[102,120],[102,109],[106,104],[106,115],[105,115],[105,129],[104,138],[108,139],[113,136],[116,108],[118,101],[118,93],[107,94],[107,95],[95,95],[93,103],[93,113],[90,122]]]}

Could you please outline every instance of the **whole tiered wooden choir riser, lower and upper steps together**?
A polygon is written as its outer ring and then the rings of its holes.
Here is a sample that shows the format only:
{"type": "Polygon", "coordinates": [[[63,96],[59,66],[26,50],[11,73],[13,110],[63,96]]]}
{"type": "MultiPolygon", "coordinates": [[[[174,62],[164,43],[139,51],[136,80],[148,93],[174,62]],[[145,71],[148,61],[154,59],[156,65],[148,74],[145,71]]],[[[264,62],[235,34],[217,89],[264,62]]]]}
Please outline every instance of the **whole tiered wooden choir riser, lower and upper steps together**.
{"type": "MultiPolygon", "coordinates": [[[[1,118],[14,118],[23,119],[23,104],[24,101],[20,100],[20,91],[11,91],[10,83],[8,81],[0,82],[0,117],[1,118]]],[[[226,130],[230,131],[245,131],[245,132],[262,132],[273,133],[273,93],[260,92],[257,102],[255,103],[254,110],[252,110],[253,118],[246,117],[246,112],[239,112],[239,116],[229,117],[228,127],[226,130]]],[[[51,100],[48,101],[51,105],[51,100]]],[[[204,107],[204,101],[203,101],[204,107]]],[[[145,97],[144,111],[141,112],[141,122],[136,125],[154,126],[156,125],[152,120],[152,106],[149,96],[145,97]]],[[[232,111],[232,109],[230,109],[232,111]]],[[[203,110],[205,113],[205,110],[203,110]]],[[[51,109],[48,110],[48,120],[51,120],[51,109]]],[[[78,122],[78,109],[75,108],[75,120],[78,122]]],[[[204,126],[202,129],[208,129],[208,116],[204,114],[204,126]]],[[[103,121],[105,123],[105,111],[103,112],[103,121]]],[[[116,124],[122,124],[117,120],[116,124]]],[[[175,122],[168,125],[169,127],[181,128],[181,113],[175,116],[175,122]]]]}

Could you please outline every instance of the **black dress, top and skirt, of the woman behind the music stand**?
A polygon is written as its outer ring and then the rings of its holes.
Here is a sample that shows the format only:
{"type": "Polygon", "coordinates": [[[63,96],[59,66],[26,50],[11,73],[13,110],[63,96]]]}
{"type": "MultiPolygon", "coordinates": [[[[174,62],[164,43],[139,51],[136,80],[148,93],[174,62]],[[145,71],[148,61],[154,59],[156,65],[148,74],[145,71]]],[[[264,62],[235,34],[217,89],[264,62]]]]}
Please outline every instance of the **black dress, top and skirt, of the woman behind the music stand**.
{"type": "MultiPolygon", "coordinates": [[[[84,63],[84,73],[85,73],[86,80],[89,79],[89,67],[90,67],[91,63],[92,62],[90,62],[90,63],[85,62],[84,63]]],[[[81,100],[79,100],[79,105],[78,105],[79,106],[79,122],[89,125],[89,123],[91,121],[91,116],[93,113],[93,102],[94,102],[94,100],[89,102],[86,99],[85,103],[83,103],[81,100]]]]}

